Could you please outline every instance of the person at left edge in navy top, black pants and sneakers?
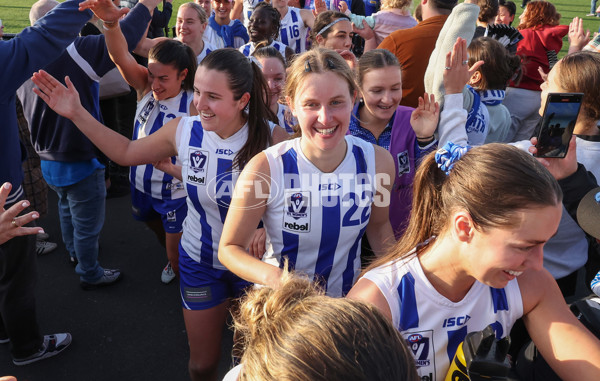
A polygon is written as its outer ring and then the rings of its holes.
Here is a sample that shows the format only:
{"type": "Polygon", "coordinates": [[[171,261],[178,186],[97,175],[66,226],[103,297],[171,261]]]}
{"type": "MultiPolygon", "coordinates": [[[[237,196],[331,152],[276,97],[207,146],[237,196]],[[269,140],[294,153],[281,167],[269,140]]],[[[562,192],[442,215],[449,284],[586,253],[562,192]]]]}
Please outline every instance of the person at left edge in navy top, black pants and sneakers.
{"type": "MultiPolygon", "coordinates": [[[[4,207],[13,213],[15,209],[11,207],[17,203],[23,205],[22,156],[15,93],[33,71],[58,58],[92,17],[89,11],[79,12],[78,4],[78,0],[67,0],[34,26],[25,28],[18,34],[18,38],[0,41],[0,63],[5,68],[11,68],[0,73],[0,115],[3,117],[0,126],[0,182],[14,184],[12,188],[5,185],[2,196],[5,200],[4,207]]],[[[125,13],[107,8],[99,8],[98,12],[105,20],[112,22],[116,22],[125,13]]],[[[17,212],[18,208],[19,206],[17,212]]],[[[2,214],[5,215],[5,212],[2,214]]],[[[6,216],[10,217],[10,214],[6,216]]],[[[21,224],[26,224],[28,218],[21,220],[19,217],[15,223],[12,221],[14,220],[10,219],[12,228],[21,233],[21,224]]],[[[6,231],[6,228],[5,225],[2,229],[6,231]]],[[[34,231],[39,232],[39,228],[34,231]]],[[[14,235],[15,233],[10,233],[10,236],[14,235]]],[[[40,333],[35,312],[35,256],[35,238],[31,235],[17,236],[0,244],[0,341],[10,342],[13,362],[17,365],[57,355],[71,343],[71,335],[68,333],[46,336],[40,333]]]]}

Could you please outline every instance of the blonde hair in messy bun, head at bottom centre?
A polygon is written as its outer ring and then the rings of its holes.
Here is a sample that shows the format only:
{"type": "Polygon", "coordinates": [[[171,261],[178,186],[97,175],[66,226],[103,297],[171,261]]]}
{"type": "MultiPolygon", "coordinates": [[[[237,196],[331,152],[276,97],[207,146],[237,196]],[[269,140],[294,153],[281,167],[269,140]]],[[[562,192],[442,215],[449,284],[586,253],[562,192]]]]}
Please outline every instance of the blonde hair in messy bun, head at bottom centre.
{"type": "Polygon", "coordinates": [[[234,316],[239,381],[417,381],[404,339],[376,307],[331,298],[285,273],[279,289],[251,290],[234,316]]]}

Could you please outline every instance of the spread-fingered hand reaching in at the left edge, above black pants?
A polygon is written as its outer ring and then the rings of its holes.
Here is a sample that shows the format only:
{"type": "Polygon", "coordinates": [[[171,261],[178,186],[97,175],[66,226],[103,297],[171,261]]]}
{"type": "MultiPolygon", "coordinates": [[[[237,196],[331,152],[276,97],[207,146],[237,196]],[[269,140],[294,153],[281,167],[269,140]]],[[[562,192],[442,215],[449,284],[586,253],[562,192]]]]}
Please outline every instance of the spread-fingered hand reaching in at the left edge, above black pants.
{"type": "Polygon", "coordinates": [[[14,237],[44,232],[40,227],[23,226],[40,217],[38,212],[19,216],[19,213],[29,206],[29,201],[19,201],[7,210],[4,209],[11,188],[10,183],[4,183],[0,188],[0,245],[14,237]]]}

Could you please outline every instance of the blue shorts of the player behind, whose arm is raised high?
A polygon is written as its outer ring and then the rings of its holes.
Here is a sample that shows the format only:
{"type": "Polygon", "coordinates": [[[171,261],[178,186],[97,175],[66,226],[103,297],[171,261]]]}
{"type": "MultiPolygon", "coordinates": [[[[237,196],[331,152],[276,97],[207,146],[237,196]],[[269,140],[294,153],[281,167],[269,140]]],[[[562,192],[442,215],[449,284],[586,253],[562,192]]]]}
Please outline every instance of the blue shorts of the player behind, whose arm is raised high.
{"type": "Polygon", "coordinates": [[[138,221],[151,221],[160,217],[167,233],[181,233],[187,215],[186,198],[159,200],[131,187],[131,214],[138,221]]]}

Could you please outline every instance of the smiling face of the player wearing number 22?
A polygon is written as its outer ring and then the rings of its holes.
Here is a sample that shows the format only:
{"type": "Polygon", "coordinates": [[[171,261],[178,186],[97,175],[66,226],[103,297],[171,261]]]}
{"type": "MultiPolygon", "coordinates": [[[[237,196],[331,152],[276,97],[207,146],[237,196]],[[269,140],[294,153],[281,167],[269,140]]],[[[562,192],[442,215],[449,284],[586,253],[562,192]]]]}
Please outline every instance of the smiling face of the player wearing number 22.
{"type": "Polygon", "coordinates": [[[354,98],[343,77],[331,71],[308,74],[288,104],[302,130],[305,154],[345,144],[354,98]]]}

